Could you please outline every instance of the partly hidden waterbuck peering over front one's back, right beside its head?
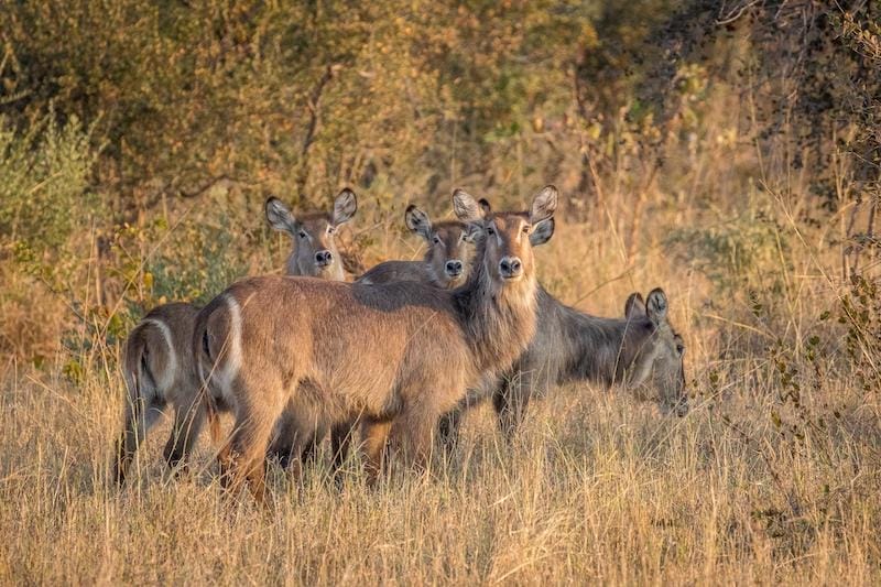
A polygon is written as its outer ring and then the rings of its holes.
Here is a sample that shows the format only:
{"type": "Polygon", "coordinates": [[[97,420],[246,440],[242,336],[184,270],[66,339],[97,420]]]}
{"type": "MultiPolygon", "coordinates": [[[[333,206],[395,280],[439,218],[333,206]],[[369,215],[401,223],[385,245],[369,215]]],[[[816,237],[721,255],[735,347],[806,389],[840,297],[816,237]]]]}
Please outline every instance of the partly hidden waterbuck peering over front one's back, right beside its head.
{"type": "Polygon", "coordinates": [[[428,215],[414,205],[404,214],[406,227],[425,239],[428,249],[422,261],[385,261],[358,278],[363,284],[393,281],[418,281],[452,290],[468,279],[474,258],[474,238],[465,222],[432,222],[428,215]]]}

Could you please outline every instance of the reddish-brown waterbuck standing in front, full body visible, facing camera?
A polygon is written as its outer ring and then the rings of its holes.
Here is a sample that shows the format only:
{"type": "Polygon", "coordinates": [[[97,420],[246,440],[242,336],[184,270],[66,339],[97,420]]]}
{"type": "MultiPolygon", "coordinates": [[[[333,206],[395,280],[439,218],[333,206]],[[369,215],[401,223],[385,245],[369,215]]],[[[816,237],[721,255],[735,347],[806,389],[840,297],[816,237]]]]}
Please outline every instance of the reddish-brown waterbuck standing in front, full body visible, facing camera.
{"type": "Polygon", "coordinates": [[[233,284],[199,313],[193,345],[209,404],[236,414],[219,456],[228,489],[247,481],[263,499],[273,423],[303,382],[325,422],[367,418],[372,477],[387,439],[424,464],[439,416],[523,352],[535,331],[530,235],[553,216],[557,191],[542,189],[525,213],[485,215],[461,191],[453,199],[479,240],[456,290],[264,276],[233,284]]]}

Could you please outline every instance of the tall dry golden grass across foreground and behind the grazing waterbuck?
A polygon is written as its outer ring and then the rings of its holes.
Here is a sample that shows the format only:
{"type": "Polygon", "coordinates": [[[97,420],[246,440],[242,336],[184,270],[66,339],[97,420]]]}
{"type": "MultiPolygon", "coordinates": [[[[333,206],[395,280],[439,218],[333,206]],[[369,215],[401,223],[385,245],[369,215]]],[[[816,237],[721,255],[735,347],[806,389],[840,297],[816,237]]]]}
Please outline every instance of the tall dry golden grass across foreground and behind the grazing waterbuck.
{"type": "MultiPolygon", "coordinates": [[[[193,478],[168,479],[167,422],[140,455],[140,479],[107,489],[118,349],[97,348],[77,385],[63,352],[39,371],[8,362],[0,583],[878,584],[877,393],[855,389],[840,355],[809,362],[796,345],[795,365],[825,373],[804,404],[840,416],[800,442],[770,415],[797,422],[765,347],[818,328],[838,296],[819,273],[831,264],[787,253],[794,270],[773,319],[749,323],[747,302],[717,294],[657,240],[627,263],[614,227],[564,224],[539,261],[553,292],[597,314],[620,314],[632,290],[666,289],[688,348],[686,417],[570,385],[534,404],[513,446],[488,406],[474,411],[455,458],[427,476],[394,471],[370,490],[355,460],[338,492],[322,470],[301,480],[273,470],[270,512],[221,497],[205,442],[193,478]]],[[[824,328],[835,347],[840,333],[824,328]]]]}

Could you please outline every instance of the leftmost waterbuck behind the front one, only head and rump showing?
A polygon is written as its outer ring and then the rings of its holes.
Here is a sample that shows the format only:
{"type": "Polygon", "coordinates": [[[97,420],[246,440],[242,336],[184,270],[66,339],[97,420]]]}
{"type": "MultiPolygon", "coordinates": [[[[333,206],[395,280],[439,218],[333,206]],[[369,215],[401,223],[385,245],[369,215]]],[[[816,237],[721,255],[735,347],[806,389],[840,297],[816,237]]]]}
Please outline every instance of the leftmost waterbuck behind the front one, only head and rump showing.
{"type": "MultiPolygon", "coordinates": [[[[270,225],[291,232],[297,240],[286,262],[287,271],[342,279],[334,233],[339,225],[352,217],[356,209],[357,199],[350,189],[344,189],[337,196],[333,214],[312,214],[300,220],[295,220],[279,199],[267,200],[265,213],[270,225]]],[[[117,483],[126,480],[139,445],[168,405],[174,412],[174,424],[164,454],[171,467],[186,458],[202,431],[205,405],[200,401],[202,382],[192,352],[193,329],[198,312],[197,306],[186,303],[157,306],[144,316],[126,340],[122,374],[127,398],[113,464],[117,483]]],[[[216,423],[214,420],[215,436],[219,434],[216,423]]],[[[281,430],[287,432],[285,426],[302,430],[296,427],[298,425],[290,414],[281,430]]]]}

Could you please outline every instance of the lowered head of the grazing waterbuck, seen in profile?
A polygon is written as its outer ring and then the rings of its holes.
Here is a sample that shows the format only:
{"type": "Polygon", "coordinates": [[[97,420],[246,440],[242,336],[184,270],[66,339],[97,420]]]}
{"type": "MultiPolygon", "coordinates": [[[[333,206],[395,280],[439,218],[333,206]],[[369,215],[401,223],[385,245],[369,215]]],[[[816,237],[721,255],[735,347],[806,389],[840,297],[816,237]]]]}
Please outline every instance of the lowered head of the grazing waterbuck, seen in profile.
{"type": "Polygon", "coordinates": [[[638,328],[651,330],[637,357],[632,384],[649,393],[654,390],[662,412],[684,416],[688,413],[683,362],[685,345],[670,324],[668,307],[667,296],[660,287],[649,293],[646,302],[639,293],[632,293],[624,304],[628,320],[638,328]]]}

